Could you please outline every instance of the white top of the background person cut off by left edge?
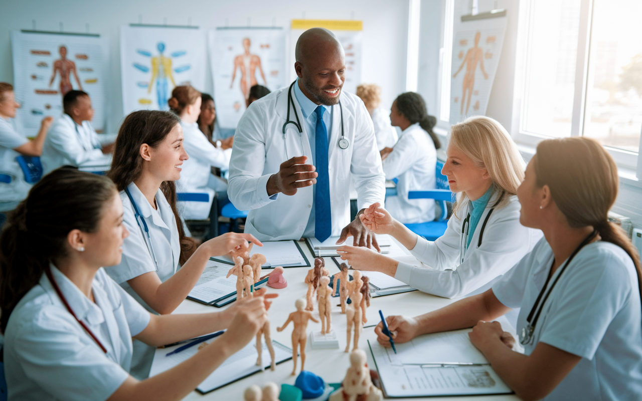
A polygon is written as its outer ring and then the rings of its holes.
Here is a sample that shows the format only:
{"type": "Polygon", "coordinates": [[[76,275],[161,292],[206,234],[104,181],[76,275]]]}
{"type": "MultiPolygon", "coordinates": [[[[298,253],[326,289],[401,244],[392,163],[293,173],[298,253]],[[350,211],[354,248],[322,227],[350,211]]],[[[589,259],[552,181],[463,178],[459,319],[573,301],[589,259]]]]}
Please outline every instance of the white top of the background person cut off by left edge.
{"type": "Polygon", "coordinates": [[[24,180],[24,173],[15,158],[20,153],[13,150],[29,142],[15,130],[13,119],[0,117],[0,174],[11,177],[10,183],[0,182],[0,211],[11,210],[27,197],[31,184],[24,180]],[[3,207],[4,206],[4,207],[3,207]]]}

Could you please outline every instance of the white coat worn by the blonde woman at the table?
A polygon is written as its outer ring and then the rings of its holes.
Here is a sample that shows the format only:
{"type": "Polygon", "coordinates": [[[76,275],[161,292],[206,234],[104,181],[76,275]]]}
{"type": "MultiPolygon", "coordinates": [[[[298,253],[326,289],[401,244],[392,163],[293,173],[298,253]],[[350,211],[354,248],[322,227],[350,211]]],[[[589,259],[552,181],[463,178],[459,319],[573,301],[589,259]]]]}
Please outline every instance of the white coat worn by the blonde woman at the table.
{"type": "Polygon", "coordinates": [[[424,293],[456,298],[489,284],[515,266],[537,244],[542,232],[519,223],[521,205],[517,196],[511,196],[507,206],[493,210],[480,245],[483,221],[496,202],[498,192],[495,191],[490,198],[480,223],[471,234],[473,238],[462,264],[459,263],[460,244],[463,243],[462,221],[468,214],[467,210],[462,216],[451,216],[446,232],[437,241],[428,241],[421,236],[417,238],[417,244],[410,253],[430,268],[399,262],[395,278],[424,293]]]}

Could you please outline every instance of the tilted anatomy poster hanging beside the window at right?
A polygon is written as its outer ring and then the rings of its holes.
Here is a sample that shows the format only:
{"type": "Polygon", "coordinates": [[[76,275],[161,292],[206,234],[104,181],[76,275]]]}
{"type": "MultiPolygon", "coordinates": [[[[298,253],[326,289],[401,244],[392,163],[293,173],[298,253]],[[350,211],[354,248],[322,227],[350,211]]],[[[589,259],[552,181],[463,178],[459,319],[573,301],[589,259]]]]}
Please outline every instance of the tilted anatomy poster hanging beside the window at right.
{"type": "Polygon", "coordinates": [[[506,32],[506,15],[455,23],[450,123],[486,114],[506,32]]]}

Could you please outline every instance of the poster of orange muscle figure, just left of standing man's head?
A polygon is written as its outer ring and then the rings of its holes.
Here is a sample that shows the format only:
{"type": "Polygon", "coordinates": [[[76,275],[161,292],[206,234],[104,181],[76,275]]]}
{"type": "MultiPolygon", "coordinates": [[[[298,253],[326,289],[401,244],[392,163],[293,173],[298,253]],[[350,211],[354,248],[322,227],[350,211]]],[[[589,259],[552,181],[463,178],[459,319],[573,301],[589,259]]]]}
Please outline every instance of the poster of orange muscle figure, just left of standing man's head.
{"type": "Polygon", "coordinates": [[[250,88],[274,91],[286,82],[286,35],[282,28],[218,28],[209,32],[216,118],[236,128],[250,88]]]}

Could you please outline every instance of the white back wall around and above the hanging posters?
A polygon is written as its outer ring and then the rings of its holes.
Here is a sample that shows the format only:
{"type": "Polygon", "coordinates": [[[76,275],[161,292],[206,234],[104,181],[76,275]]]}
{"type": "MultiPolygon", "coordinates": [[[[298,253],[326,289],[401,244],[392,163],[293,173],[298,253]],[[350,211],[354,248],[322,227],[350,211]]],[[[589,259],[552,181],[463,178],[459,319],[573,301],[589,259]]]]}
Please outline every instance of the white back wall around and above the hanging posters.
{"type": "MultiPolygon", "coordinates": [[[[217,26],[282,26],[291,19],[357,19],[363,21],[364,82],[383,89],[383,105],[405,89],[408,35],[408,0],[3,0],[0,12],[0,81],[13,82],[9,31],[36,29],[85,32],[109,37],[108,130],[116,132],[123,119],[121,100],[119,26],[143,24],[187,25],[204,29],[217,26]],[[166,21],[165,21],[166,19],[166,21]]],[[[204,92],[213,92],[208,65],[204,92]]]]}

